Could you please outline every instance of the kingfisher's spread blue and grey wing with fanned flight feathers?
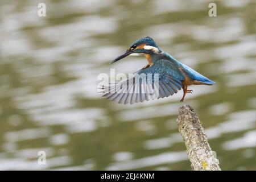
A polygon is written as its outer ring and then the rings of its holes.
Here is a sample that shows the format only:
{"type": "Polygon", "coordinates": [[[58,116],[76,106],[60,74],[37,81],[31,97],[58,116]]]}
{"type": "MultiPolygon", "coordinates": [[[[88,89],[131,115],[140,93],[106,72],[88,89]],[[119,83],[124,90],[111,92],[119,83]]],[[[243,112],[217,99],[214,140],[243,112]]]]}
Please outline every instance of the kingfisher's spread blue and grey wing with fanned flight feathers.
{"type": "Polygon", "coordinates": [[[177,93],[182,88],[183,80],[177,65],[162,59],[134,73],[133,77],[105,87],[103,97],[119,104],[154,100],[177,93]]]}

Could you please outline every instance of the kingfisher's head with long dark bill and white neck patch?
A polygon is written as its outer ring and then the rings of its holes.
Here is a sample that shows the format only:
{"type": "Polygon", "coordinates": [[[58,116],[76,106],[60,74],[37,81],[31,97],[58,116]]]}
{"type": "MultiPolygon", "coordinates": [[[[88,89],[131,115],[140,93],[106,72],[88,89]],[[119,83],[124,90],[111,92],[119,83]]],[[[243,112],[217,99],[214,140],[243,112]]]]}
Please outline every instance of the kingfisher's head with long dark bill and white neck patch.
{"type": "Polygon", "coordinates": [[[115,63],[129,55],[136,55],[136,54],[145,54],[145,55],[153,55],[162,52],[155,41],[147,36],[146,38],[141,38],[135,40],[130,47],[127,49],[125,53],[115,58],[110,63],[115,63]]]}

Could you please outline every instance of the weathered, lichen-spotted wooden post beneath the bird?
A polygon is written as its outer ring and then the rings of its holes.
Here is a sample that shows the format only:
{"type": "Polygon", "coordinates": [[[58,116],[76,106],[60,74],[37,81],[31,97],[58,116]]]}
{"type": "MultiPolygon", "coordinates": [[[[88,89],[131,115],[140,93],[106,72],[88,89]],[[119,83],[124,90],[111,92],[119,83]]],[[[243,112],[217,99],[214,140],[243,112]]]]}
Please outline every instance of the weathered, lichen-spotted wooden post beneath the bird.
{"type": "Polygon", "coordinates": [[[191,106],[183,105],[180,107],[177,125],[187,147],[192,169],[195,171],[221,171],[203,126],[191,106]]]}

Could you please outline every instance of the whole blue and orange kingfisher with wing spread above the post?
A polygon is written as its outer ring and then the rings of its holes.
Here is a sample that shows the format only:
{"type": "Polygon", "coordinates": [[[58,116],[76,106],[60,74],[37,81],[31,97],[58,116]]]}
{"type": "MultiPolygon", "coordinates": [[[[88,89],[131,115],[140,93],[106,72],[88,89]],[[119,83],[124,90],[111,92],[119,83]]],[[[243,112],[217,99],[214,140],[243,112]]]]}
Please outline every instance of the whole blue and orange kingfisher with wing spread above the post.
{"type": "Polygon", "coordinates": [[[132,77],[110,84],[108,89],[104,88],[103,97],[117,101],[118,104],[134,104],[145,100],[154,100],[154,97],[150,97],[152,93],[157,93],[155,97],[157,99],[164,98],[172,96],[181,89],[183,89],[183,97],[180,102],[183,102],[185,95],[193,92],[188,89],[189,85],[215,84],[214,81],[176,60],[169,53],[162,51],[149,36],[135,40],[125,53],[110,63],[115,63],[129,55],[143,55],[148,63],[133,73],[132,77]],[[140,79],[141,75],[146,77],[146,81],[140,79]],[[156,82],[157,86],[155,86],[156,82]]]}

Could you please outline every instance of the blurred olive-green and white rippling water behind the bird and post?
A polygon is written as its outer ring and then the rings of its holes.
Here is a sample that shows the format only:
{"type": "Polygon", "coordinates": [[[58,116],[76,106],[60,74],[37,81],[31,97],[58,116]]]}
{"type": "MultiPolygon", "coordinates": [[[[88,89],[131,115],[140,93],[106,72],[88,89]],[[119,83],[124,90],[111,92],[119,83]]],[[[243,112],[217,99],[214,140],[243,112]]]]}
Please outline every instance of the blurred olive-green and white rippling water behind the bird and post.
{"type": "Polygon", "coordinates": [[[192,86],[184,104],[199,115],[220,167],[256,170],[255,12],[253,0],[2,0],[0,169],[191,170],[176,125],[181,92],[134,105],[97,93],[99,73],[146,65],[138,56],[109,61],[151,36],[217,82],[192,86]]]}

